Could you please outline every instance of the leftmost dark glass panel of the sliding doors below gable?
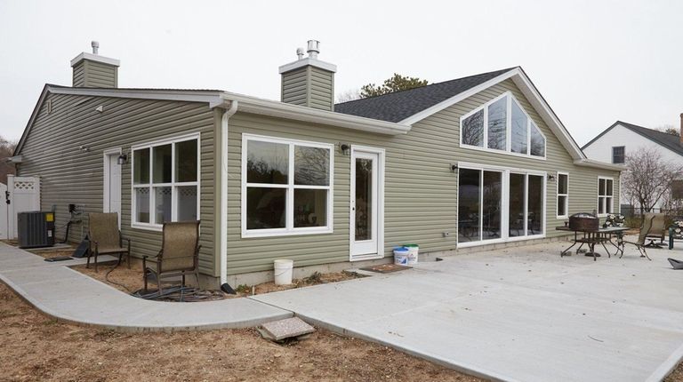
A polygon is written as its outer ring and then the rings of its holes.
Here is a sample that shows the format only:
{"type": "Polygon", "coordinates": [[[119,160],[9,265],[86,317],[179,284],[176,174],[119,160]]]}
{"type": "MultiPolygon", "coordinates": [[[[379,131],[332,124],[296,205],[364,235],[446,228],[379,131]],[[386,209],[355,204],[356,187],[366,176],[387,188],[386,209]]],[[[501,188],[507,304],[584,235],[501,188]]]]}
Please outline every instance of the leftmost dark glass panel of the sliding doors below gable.
{"type": "Polygon", "coordinates": [[[481,171],[460,169],[458,176],[458,243],[478,242],[479,176],[481,171]]]}

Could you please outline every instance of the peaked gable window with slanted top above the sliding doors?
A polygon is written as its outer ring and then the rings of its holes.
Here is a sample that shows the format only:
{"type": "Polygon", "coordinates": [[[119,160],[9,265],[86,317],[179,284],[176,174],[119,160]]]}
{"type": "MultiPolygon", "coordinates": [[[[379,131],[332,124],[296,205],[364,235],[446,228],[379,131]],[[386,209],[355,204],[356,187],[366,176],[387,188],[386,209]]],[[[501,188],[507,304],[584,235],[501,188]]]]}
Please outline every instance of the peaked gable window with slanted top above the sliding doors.
{"type": "Polygon", "coordinates": [[[545,157],[546,139],[510,92],[461,118],[462,147],[545,157]]]}

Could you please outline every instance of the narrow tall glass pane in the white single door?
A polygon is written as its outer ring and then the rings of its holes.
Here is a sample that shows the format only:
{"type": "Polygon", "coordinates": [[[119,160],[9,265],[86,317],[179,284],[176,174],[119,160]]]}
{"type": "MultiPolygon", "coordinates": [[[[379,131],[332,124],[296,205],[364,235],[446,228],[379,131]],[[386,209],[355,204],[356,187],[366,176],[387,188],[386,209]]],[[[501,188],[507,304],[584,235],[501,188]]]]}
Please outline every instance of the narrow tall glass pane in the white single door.
{"type": "Polygon", "coordinates": [[[373,160],[356,159],[356,241],[373,238],[373,160]]]}

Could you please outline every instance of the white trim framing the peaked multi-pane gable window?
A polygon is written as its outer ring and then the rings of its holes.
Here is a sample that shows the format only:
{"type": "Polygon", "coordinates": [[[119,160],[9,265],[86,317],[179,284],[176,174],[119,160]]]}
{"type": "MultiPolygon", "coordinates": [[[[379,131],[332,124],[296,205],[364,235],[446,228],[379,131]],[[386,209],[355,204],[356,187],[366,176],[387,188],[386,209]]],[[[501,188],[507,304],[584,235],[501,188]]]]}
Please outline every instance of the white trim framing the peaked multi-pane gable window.
{"type": "Polygon", "coordinates": [[[462,148],[468,148],[472,150],[479,150],[479,151],[486,151],[488,153],[497,153],[497,154],[503,154],[503,155],[512,155],[512,156],[520,156],[524,158],[532,158],[532,159],[538,159],[538,160],[546,160],[547,155],[548,155],[548,138],[543,134],[543,131],[541,130],[540,127],[538,127],[538,123],[535,123],[531,116],[526,113],[526,109],[522,107],[522,105],[519,103],[519,101],[515,98],[515,96],[512,94],[512,92],[503,92],[501,95],[498,97],[495,97],[494,99],[489,100],[486,102],[484,105],[475,108],[474,110],[471,110],[469,113],[462,115],[460,117],[460,126],[459,126],[459,131],[460,131],[460,140],[459,140],[459,145],[462,148]],[[496,148],[488,148],[488,107],[493,104],[495,101],[502,99],[504,97],[508,97],[507,101],[507,109],[506,109],[506,139],[505,139],[505,150],[499,150],[496,148]],[[512,143],[512,102],[516,102],[517,106],[519,107],[520,110],[522,110],[522,113],[526,115],[526,150],[527,154],[521,154],[521,153],[513,153],[510,151],[512,149],[511,143],[512,143]],[[483,145],[482,147],[478,146],[473,146],[473,145],[467,145],[462,143],[462,121],[470,117],[470,115],[474,115],[478,113],[479,111],[484,110],[484,138],[483,138],[483,145]],[[543,156],[538,156],[538,155],[531,155],[531,124],[534,123],[534,126],[536,129],[538,129],[538,132],[541,133],[541,136],[543,137],[544,145],[543,145],[543,156]]]}

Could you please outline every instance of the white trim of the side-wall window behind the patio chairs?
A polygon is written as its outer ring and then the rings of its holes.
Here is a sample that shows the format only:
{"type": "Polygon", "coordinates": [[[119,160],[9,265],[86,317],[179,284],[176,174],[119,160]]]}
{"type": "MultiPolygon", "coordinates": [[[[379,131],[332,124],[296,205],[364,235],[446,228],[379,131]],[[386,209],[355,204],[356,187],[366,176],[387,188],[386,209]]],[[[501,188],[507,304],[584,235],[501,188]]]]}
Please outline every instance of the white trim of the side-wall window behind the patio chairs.
{"type": "Polygon", "coordinates": [[[181,186],[196,186],[197,187],[197,219],[200,217],[200,211],[201,211],[201,201],[202,201],[202,195],[201,195],[201,179],[202,179],[202,172],[201,172],[201,166],[202,166],[202,142],[201,142],[201,134],[196,132],[192,134],[185,134],[185,135],[180,135],[180,136],[173,136],[171,138],[165,138],[165,139],[157,139],[151,142],[146,142],[138,145],[134,145],[131,147],[131,227],[133,228],[138,228],[138,229],[145,229],[149,231],[161,231],[164,227],[162,223],[151,223],[151,221],[156,215],[154,209],[155,209],[155,194],[154,194],[154,187],[171,187],[172,188],[172,201],[171,201],[171,221],[176,221],[177,219],[177,207],[176,207],[176,198],[177,198],[177,193],[173,191],[175,187],[181,187],[181,186]],[[197,181],[194,182],[176,182],[175,181],[175,143],[178,142],[184,142],[186,140],[192,140],[192,139],[197,139],[197,181]],[[164,146],[171,144],[171,163],[172,163],[172,170],[171,170],[171,183],[154,183],[153,182],[153,174],[154,174],[154,164],[153,162],[153,155],[152,155],[152,147],[157,147],[157,146],[164,146]],[[133,179],[134,179],[134,173],[135,171],[135,155],[133,153],[135,150],[140,150],[140,149],[149,149],[149,183],[145,184],[134,184],[133,179]],[[149,223],[143,223],[143,222],[137,222],[135,221],[135,217],[137,216],[137,201],[135,198],[135,188],[145,188],[149,187],[149,223]]]}

